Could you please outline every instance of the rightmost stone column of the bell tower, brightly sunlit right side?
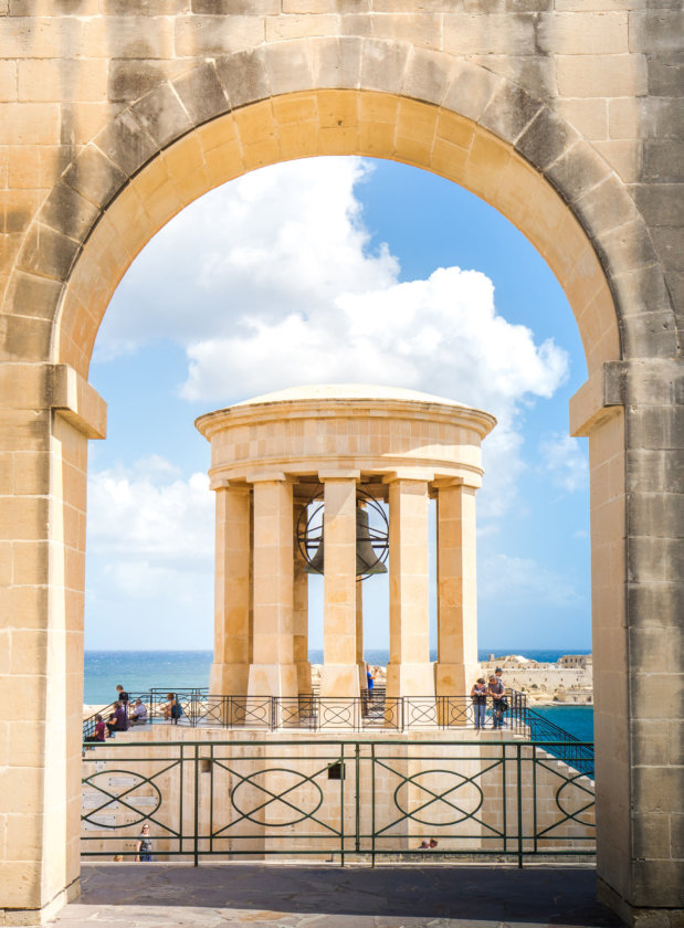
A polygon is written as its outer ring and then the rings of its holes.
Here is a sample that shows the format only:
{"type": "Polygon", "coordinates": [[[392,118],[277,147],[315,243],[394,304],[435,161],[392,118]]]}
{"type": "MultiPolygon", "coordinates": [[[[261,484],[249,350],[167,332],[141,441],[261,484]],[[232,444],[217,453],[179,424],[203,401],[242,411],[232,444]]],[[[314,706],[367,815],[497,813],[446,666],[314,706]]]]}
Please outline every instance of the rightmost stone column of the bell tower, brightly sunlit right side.
{"type": "Polygon", "coordinates": [[[436,695],[464,696],[477,677],[476,487],[436,485],[436,695]]]}

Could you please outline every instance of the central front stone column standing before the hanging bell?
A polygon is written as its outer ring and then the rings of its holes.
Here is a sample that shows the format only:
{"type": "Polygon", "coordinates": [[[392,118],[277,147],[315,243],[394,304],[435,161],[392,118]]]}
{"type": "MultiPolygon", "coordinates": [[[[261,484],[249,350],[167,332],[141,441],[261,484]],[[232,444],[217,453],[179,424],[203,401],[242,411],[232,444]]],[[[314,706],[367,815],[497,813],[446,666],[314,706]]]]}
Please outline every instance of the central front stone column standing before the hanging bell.
{"type": "Polygon", "coordinates": [[[322,696],[358,696],[356,657],[356,484],[358,472],[320,474],[324,484],[324,664],[322,696]]]}

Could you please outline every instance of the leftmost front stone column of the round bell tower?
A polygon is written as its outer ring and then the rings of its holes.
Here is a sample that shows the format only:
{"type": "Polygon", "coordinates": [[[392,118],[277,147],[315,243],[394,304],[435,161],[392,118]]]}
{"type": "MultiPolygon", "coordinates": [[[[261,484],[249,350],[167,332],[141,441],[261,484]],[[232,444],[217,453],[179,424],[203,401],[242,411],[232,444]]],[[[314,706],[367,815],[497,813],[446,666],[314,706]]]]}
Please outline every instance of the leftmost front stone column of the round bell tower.
{"type": "Polygon", "coordinates": [[[221,481],[217,494],[212,695],[244,696],[250,672],[251,487],[221,481]]]}

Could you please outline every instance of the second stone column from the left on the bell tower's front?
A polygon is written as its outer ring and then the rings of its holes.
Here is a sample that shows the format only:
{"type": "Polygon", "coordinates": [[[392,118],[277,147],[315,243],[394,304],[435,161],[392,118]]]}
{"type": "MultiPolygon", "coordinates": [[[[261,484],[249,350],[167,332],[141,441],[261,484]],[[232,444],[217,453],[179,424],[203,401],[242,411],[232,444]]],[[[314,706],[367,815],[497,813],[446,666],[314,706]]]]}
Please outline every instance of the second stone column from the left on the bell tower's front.
{"type": "Polygon", "coordinates": [[[292,484],[253,477],[253,639],[250,696],[297,696],[293,642],[292,484]]]}

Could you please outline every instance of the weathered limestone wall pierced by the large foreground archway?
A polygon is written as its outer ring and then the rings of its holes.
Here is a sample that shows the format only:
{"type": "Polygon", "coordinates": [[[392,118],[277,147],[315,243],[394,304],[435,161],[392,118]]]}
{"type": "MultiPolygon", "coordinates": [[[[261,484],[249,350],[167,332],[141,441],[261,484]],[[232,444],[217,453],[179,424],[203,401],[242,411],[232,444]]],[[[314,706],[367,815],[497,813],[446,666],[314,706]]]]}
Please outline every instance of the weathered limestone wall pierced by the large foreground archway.
{"type": "Polygon", "coordinates": [[[589,371],[571,430],[590,445],[600,885],[642,922],[684,906],[682,12],[672,0],[415,7],[0,0],[0,907],[27,919],[77,889],[99,321],[186,204],[320,154],[462,183],[529,238],[568,296],[589,371]]]}

